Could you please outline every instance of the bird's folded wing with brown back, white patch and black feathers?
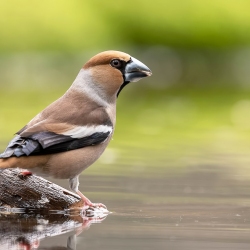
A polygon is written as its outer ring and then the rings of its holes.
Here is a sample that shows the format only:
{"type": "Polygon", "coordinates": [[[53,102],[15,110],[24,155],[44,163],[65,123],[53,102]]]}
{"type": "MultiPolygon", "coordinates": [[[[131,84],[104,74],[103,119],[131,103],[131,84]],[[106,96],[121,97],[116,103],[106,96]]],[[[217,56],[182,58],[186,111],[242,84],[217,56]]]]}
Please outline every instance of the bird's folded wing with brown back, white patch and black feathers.
{"type": "Polygon", "coordinates": [[[113,132],[105,107],[83,94],[65,94],[35,116],[0,158],[60,153],[97,145],[113,132]]]}

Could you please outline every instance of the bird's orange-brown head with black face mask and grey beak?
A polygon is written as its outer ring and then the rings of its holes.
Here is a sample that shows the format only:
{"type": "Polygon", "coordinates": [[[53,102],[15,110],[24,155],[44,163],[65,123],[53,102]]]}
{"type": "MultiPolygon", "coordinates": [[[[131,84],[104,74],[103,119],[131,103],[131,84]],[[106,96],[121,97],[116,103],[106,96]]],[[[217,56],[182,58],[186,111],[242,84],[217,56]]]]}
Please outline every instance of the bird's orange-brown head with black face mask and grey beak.
{"type": "Polygon", "coordinates": [[[129,82],[151,76],[151,70],[139,60],[120,51],[104,51],[92,57],[84,66],[92,80],[109,96],[118,96],[129,82]]]}

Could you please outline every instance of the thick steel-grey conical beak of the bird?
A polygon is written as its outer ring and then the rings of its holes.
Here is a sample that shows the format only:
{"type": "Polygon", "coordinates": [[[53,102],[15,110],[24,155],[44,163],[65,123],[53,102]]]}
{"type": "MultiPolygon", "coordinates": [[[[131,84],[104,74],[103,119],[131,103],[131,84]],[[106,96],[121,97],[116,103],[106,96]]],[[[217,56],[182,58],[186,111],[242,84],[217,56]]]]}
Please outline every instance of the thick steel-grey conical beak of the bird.
{"type": "Polygon", "coordinates": [[[131,57],[125,67],[125,81],[137,82],[143,77],[151,76],[151,70],[139,60],[131,57]]]}

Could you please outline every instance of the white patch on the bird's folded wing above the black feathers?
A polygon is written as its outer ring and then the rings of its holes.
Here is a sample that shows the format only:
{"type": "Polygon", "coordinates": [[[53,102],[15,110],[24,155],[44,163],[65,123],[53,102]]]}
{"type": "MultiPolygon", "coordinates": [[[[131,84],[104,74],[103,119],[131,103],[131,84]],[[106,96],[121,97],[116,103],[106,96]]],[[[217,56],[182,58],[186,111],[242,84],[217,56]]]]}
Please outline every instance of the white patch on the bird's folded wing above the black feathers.
{"type": "Polygon", "coordinates": [[[83,137],[93,135],[94,133],[107,133],[107,132],[111,133],[112,131],[113,131],[113,128],[107,125],[77,126],[62,134],[68,135],[72,138],[81,139],[83,137]]]}

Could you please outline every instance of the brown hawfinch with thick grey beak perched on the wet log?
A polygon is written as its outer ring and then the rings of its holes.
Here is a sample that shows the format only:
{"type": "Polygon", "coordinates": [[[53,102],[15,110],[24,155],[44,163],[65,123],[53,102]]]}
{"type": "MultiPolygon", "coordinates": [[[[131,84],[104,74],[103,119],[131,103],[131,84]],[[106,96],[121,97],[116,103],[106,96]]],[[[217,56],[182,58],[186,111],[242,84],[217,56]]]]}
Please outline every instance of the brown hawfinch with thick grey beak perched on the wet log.
{"type": "Polygon", "coordinates": [[[79,175],[101,156],[113,136],[121,90],[151,75],[145,64],[124,52],[93,56],[64,95],[15,134],[0,154],[0,169],[68,179],[84,206],[106,207],[79,191],[79,175]]]}

